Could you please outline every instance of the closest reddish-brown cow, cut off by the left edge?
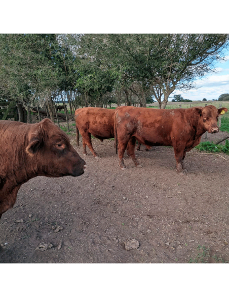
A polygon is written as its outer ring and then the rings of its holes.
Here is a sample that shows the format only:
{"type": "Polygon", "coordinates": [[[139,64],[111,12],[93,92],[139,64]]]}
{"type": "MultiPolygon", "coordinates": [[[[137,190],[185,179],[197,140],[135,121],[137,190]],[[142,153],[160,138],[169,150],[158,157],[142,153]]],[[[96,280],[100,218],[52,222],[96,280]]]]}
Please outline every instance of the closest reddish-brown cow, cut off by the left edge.
{"type": "Polygon", "coordinates": [[[0,121],[0,218],[21,185],[35,176],[79,176],[86,163],[48,118],[38,124],[0,121]]]}

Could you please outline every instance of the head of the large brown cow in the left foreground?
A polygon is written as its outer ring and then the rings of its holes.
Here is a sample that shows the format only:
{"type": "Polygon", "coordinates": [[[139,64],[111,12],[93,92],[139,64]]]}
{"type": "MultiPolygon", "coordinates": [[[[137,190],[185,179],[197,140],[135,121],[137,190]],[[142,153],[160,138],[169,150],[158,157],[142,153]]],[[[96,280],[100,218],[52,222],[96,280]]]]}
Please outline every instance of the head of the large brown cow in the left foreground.
{"type": "Polygon", "coordinates": [[[48,118],[34,124],[25,151],[36,165],[37,175],[78,176],[87,166],[70,144],[68,136],[48,118]]]}

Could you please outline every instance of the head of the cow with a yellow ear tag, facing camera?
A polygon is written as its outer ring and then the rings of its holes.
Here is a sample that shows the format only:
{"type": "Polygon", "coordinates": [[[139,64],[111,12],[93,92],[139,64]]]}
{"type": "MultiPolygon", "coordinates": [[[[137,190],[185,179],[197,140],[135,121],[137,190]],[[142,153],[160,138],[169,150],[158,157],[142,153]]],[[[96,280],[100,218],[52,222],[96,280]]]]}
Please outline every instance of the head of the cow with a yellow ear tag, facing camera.
{"type": "Polygon", "coordinates": [[[222,107],[217,109],[213,105],[207,105],[205,107],[196,108],[196,112],[200,116],[201,124],[204,130],[209,133],[217,133],[219,132],[219,128],[217,126],[217,121],[220,114],[227,112],[227,108],[222,107]]]}

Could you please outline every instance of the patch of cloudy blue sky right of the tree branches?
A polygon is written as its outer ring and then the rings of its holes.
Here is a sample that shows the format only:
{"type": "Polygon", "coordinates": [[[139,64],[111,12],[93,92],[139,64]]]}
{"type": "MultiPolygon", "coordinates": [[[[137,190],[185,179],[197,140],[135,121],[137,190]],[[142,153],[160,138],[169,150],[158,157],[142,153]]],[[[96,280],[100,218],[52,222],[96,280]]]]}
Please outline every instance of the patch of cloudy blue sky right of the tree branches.
{"type": "Polygon", "coordinates": [[[216,63],[215,68],[217,73],[206,75],[204,79],[196,80],[198,89],[193,89],[188,92],[174,91],[169,96],[169,101],[173,99],[173,95],[181,95],[184,99],[190,100],[207,100],[218,99],[219,95],[229,94],[229,50],[225,52],[225,62],[216,63]]]}

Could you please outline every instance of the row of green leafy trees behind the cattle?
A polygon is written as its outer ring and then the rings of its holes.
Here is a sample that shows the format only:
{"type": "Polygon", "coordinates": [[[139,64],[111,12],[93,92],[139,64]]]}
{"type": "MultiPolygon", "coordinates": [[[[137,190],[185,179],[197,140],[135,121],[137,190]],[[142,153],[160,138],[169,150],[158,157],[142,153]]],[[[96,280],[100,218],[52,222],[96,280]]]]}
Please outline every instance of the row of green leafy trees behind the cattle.
{"type": "Polygon", "coordinates": [[[0,100],[47,108],[165,108],[224,58],[227,34],[1,34],[0,100]]]}

